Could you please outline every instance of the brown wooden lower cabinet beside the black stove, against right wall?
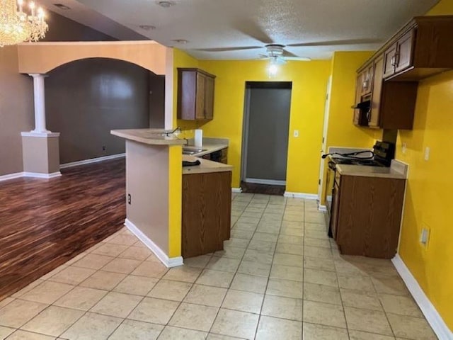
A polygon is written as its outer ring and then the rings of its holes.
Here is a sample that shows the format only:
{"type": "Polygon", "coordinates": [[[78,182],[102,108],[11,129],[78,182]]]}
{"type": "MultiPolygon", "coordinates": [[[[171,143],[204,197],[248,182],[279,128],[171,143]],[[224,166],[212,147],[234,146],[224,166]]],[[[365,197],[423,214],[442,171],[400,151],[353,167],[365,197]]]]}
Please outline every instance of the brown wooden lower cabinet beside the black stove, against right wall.
{"type": "Polygon", "coordinates": [[[338,176],[331,228],[341,254],[395,256],[405,185],[405,179],[338,176]]]}

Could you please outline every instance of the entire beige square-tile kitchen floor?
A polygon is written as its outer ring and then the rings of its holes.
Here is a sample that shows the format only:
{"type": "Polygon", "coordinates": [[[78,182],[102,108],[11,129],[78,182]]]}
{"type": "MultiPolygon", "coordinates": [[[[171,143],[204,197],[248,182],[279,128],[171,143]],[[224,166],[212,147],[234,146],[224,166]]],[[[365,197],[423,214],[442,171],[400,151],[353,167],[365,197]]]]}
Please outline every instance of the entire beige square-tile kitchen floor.
{"type": "Polygon", "coordinates": [[[234,194],[224,251],[165,268],[127,229],[0,301],[0,339],[437,339],[390,261],[316,202],[234,194]]]}

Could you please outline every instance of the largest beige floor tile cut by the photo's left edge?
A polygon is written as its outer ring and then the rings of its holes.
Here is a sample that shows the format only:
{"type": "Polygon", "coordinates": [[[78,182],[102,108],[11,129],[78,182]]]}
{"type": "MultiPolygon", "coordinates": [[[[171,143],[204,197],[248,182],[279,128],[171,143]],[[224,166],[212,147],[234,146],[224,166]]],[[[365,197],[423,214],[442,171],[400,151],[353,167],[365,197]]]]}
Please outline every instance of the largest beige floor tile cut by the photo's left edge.
{"type": "Polygon", "coordinates": [[[19,328],[33,319],[47,305],[39,302],[14,300],[0,310],[0,326],[19,328]]]}

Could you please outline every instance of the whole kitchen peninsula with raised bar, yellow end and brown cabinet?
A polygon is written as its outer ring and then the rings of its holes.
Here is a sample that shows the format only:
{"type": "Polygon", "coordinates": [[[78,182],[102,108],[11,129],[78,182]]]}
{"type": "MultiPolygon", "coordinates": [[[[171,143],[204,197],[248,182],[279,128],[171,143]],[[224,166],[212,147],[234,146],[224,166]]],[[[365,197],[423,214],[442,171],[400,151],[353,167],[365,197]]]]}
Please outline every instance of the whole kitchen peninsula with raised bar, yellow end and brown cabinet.
{"type": "Polygon", "coordinates": [[[232,166],[200,159],[200,165],[183,170],[186,141],[164,130],[111,133],[126,140],[127,228],[168,267],[223,249],[229,239],[232,166]]]}

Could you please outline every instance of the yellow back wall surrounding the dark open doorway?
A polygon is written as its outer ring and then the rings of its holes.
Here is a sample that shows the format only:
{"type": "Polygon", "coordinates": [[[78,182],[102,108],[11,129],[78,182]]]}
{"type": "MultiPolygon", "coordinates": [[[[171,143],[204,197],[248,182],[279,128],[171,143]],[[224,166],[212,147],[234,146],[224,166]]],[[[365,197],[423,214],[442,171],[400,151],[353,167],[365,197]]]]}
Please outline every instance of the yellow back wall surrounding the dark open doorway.
{"type": "Polygon", "coordinates": [[[205,136],[229,138],[229,164],[234,166],[232,186],[240,186],[241,145],[246,81],[292,81],[287,158],[287,191],[316,193],[319,150],[323,128],[324,96],[330,62],[288,62],[269,79],[267,61],[200,60],[199,66],[215,74],[214,120],[202,125],[205,136]],[[299,137],[292,131],[299,130],[299,137]]]}

